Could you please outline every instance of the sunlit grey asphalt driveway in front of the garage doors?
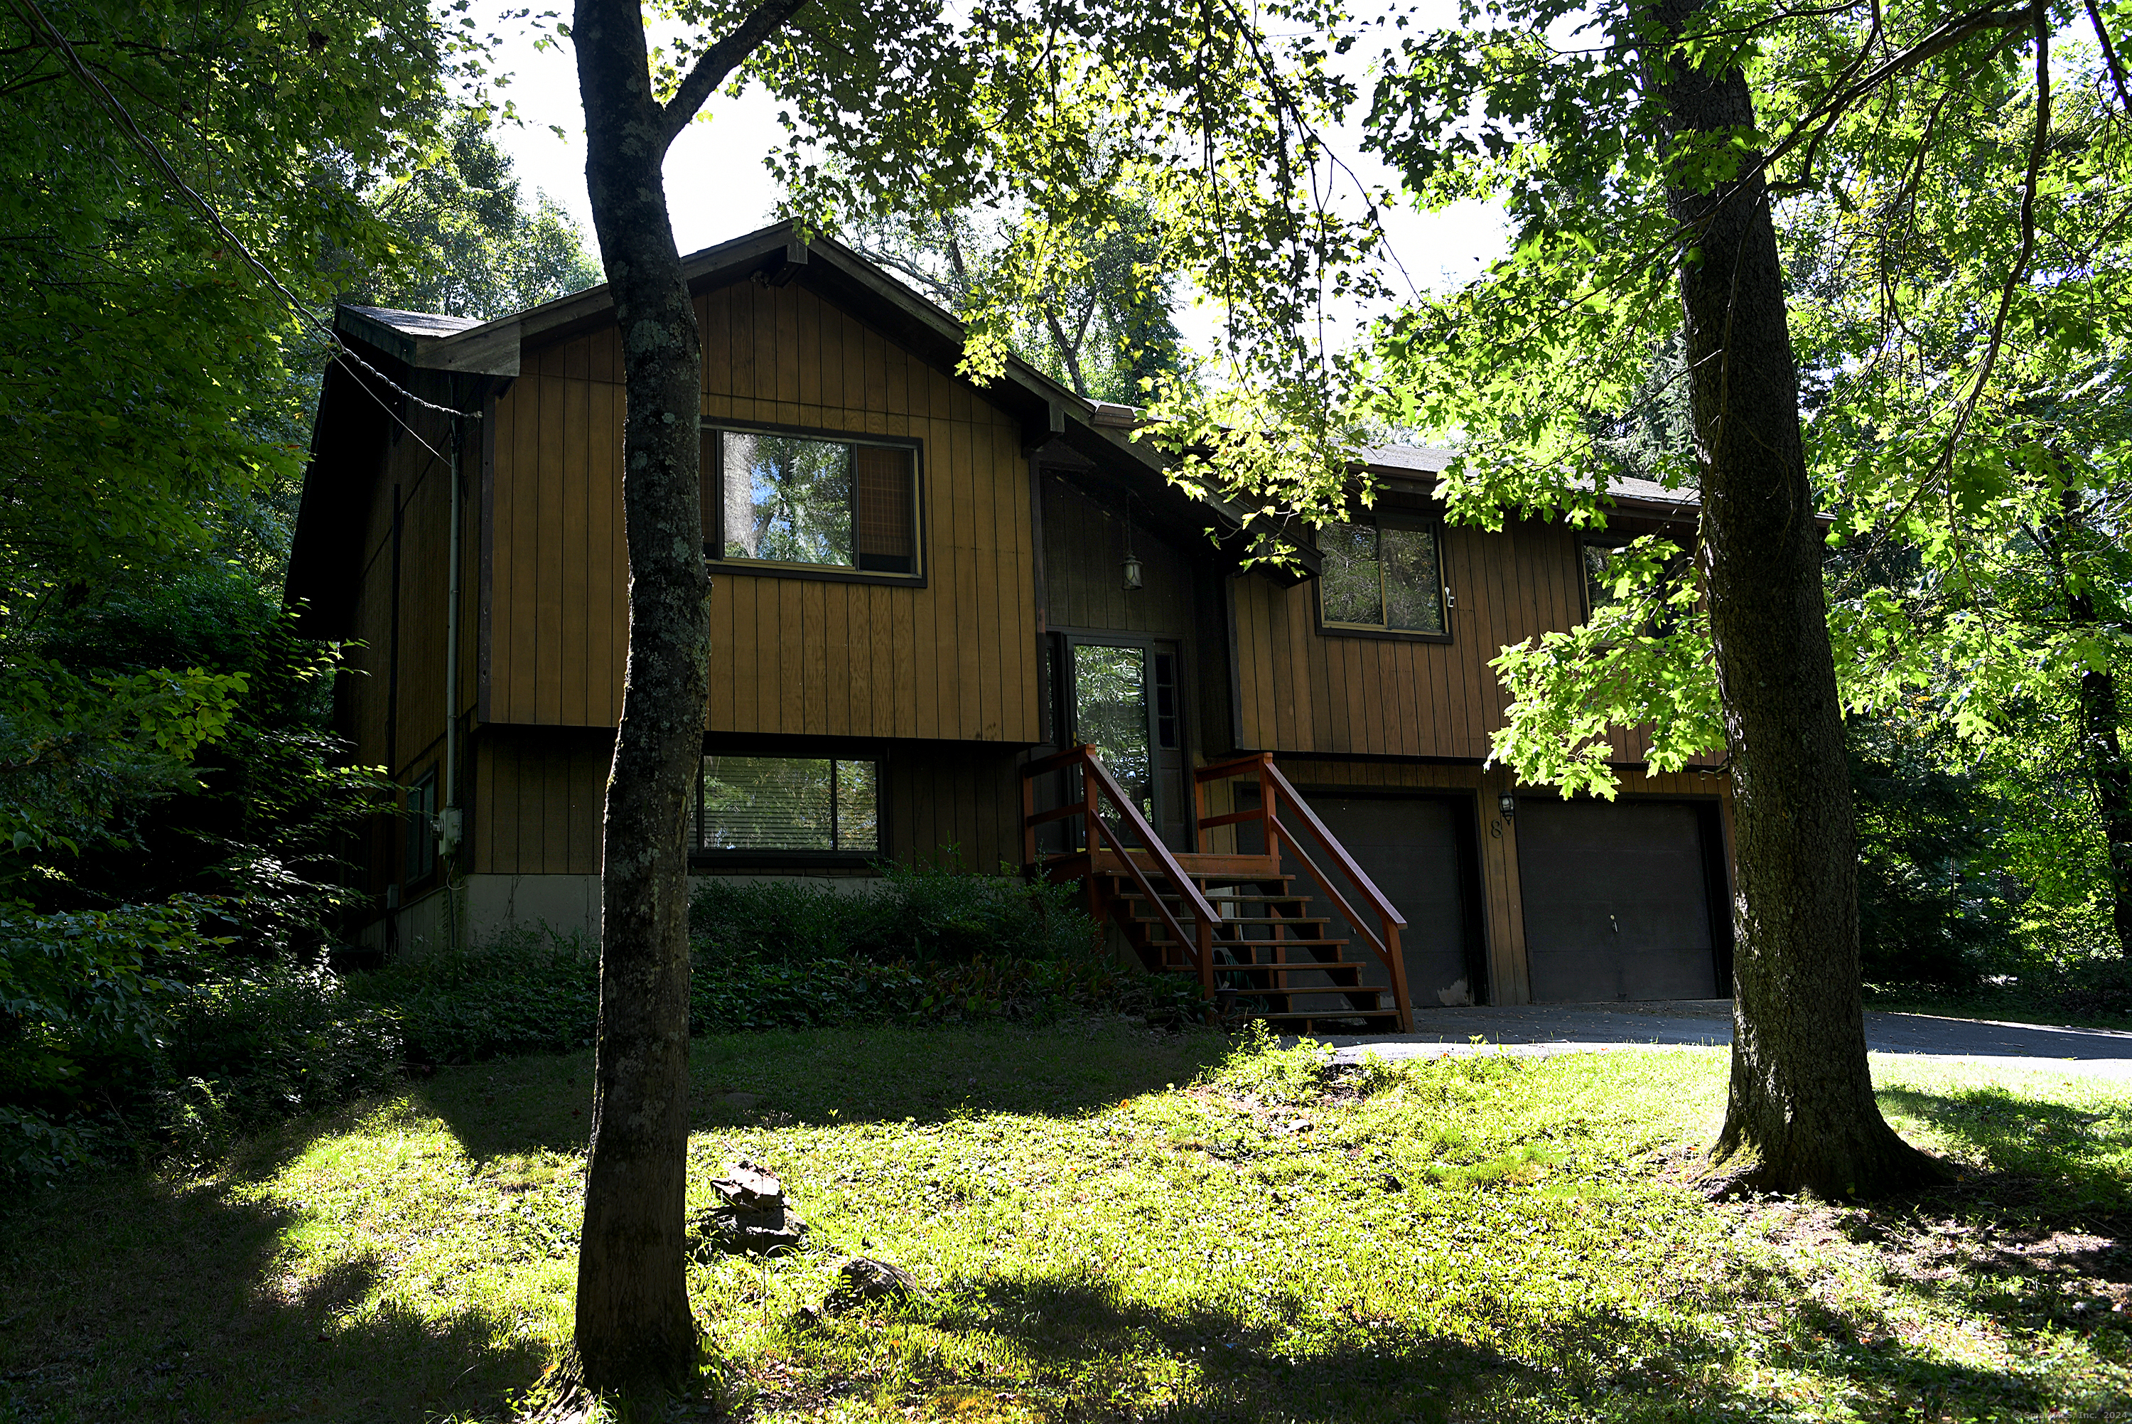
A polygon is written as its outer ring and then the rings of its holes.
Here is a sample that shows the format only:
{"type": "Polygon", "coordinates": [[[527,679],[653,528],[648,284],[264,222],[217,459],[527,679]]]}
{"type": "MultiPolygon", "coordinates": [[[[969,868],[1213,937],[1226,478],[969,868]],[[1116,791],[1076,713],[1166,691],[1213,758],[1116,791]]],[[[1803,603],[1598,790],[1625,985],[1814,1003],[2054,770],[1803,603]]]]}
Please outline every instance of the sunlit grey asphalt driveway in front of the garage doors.
{"type": "MultiPolygon", "coordinates": [[[[1328,1034],[1324,1040],[1339,1049],[1339,1062],[1358,1062],[1362,1053],[1396,1059],[1497,1051],[1544,1057],[1663,1047],[1723,1049],[1731,1047],[1731,1000],[1416,1008],[1414,1025],[1414,1034],[1328,1034]]],[[[2132,1081],[2132,1034],[2100,1027],[1870,1013],[1866,1049],[2132,1081]]]]}

